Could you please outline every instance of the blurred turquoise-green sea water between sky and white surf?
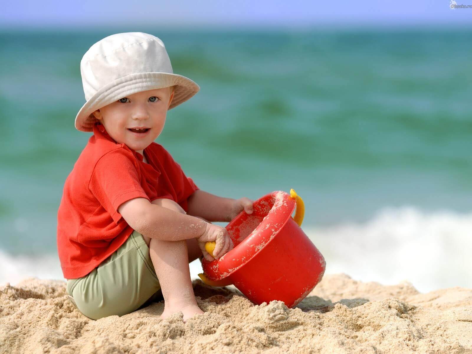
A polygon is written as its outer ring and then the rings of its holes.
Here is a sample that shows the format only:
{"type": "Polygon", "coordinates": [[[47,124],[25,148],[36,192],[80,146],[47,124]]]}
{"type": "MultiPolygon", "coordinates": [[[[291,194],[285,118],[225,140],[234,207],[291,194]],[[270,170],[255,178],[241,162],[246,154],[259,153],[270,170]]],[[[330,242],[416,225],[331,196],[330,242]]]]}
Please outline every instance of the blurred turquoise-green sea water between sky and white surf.
{"type": "MultiPolygon", "coordinates": [[[[472,209],[472,30],[139,30],[201,86],[156,140],[201,189],[254,200],[294,188],[307,227],[384,207],[472,209]]],[[[74,127],[80,59],[125,31],[0,33],[6,254],[55,253],[64,181],[91,135],[74,127]]]]}

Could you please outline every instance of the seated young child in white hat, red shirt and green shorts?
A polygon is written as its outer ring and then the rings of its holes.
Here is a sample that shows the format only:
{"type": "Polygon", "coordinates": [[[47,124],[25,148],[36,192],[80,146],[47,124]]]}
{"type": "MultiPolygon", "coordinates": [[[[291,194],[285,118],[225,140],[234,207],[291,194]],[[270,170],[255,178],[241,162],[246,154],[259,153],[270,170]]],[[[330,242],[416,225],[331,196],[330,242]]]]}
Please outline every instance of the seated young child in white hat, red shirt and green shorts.
{"type": "MultiPolygon", "coordinates": [[[[164,43],[141,32],[96,42],[80,62],[86,103],[75,126],[93,132],[64,184],[57,244],[67,295],[85,316],[124,315],[162,297],[161,318],[203,313],[189,261],[215,241],[215,258],[232,249],[226,228],[253,212],[248,198],[200,190],[154,140],[167,111],[200,87],[173,74],[164,43]]],[[[182,127],[182,136],[192,134],[182,127]]]]}

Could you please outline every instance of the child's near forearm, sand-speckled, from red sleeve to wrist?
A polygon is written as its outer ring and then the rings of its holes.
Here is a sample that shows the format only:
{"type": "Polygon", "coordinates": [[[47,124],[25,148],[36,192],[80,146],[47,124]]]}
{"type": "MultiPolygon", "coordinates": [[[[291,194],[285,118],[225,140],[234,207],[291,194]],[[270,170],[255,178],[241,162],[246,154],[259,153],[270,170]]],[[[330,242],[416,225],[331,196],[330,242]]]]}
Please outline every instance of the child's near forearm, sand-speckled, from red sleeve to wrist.
{"type": "Polygon", "coordinates": [[[149,202],[134,198],[122,203],[118,212],[142,235],[165,241],[179,241],[202,236],[207,222],[149,202]]]}

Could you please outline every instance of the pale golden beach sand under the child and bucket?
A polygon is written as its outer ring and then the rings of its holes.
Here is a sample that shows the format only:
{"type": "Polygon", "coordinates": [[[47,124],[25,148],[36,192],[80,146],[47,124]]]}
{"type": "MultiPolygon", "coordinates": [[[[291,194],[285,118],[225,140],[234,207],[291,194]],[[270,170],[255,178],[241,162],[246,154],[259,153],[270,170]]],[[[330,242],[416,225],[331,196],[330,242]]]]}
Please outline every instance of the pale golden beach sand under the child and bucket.
{"type": "Polygon", "coordinates": [[[253,305],[234,287],[194,280],[204,315],[160,320],[163,303],[90,320],[62,281],[0,287],[0,353],[472,353],[472,289],[325,275],[293,309],[253,305]]]}

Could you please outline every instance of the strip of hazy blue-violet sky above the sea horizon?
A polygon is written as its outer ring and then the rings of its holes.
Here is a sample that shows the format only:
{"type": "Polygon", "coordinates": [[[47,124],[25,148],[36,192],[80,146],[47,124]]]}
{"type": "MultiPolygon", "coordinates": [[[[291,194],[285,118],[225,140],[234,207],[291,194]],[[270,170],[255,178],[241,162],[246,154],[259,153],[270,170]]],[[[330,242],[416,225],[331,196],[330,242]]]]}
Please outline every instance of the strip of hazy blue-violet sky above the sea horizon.
{"type": "MultiPolygon", "coordinates": [[[[472,0],[457,4],[472,5],[472,0]]],[[[329,25],[467,25],[472,8],[450,9],[450,0],[380,1],[10,1],[0,26],[107,27],[316,27],[329,25]]]]}

